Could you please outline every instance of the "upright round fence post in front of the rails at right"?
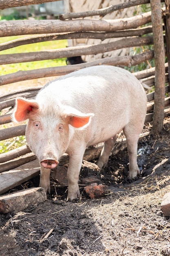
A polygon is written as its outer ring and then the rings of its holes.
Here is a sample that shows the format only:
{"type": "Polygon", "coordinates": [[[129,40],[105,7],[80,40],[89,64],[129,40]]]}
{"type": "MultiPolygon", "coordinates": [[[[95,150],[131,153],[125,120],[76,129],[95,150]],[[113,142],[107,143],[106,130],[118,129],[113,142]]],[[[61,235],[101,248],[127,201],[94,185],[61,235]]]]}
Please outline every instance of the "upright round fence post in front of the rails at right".
{"type": "Polygon", "coordinates": [[[165,50],[161,18],[161,0],[150,0],[155,56],[155,104],[152,134],[157,135],[163,128],[165,98],[165,50]]]}

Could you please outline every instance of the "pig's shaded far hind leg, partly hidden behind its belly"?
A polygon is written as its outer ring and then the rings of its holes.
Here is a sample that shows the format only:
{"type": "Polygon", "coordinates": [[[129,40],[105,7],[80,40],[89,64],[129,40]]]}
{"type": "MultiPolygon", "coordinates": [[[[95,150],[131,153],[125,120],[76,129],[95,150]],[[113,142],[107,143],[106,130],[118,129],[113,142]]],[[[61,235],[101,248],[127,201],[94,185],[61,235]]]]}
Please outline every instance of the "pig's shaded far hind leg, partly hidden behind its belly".
{"type": "Polygon", "coordinates": [[[102,152],[97,161],[97,166],[99,166],[100,169],[106,167],[110,152],[112,151],[113,145],[115,144],[116,140],[117,140],[117,136],[115,135],[113,138],[110,138],[104,142],[104,147],[102,148],[102,152]]]}

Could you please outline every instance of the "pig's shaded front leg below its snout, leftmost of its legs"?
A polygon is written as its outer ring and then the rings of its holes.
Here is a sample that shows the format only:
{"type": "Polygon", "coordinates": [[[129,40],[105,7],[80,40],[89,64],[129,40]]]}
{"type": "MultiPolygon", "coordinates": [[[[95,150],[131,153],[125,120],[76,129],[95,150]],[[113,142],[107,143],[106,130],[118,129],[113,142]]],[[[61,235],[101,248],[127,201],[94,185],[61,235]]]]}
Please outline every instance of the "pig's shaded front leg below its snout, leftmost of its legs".
{"type": "Polygon", "coordinates": [[[51,169],[47,169],[41,166],[39,186],[44,188],[46,193],[47,192],[50,193],[50,172],[51,172],[51,169]]]}

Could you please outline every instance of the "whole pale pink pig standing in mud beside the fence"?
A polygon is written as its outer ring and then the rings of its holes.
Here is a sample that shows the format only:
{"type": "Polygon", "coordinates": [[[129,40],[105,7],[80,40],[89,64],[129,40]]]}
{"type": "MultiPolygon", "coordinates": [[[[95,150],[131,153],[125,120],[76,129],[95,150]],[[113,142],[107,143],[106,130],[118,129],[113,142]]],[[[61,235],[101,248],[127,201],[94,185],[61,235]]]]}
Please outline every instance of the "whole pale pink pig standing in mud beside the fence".
{"type": "Polygon", "coordinates": [[[85,67],[45,85],[35,100],[16,99],[13,119],[28,119],[26,141],[40,162],[40,185],[50,193],[50,171],[69,155],[68,197],[79,193],[79,171],[86,147],[104,142],[97,165],[104,168],[123,130],[129,157],[129,178],[139,173],[137,146],[146,116],[141,83],[121,67],[85,67]]]}

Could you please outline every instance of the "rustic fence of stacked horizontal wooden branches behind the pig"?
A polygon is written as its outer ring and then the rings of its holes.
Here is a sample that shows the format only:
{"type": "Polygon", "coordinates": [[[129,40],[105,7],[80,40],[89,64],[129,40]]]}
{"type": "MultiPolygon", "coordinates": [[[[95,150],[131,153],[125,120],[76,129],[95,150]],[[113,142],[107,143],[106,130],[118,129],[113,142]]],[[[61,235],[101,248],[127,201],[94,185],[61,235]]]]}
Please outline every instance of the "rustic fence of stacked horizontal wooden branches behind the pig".
{"type": "MultiPolygon", "coordinates": [[[[48,0],[41,2],[50,2],[48,0]]],[[[152,12],[146,12],[142,15],[133,16],[131,18],[123,18],[119,20],[93,20],[82,19],[83,17],[99,15],[105,16],[107,13],[115,10],[120,10],[130,6],[136,6],[138,4],[148,4],[148,0],[136,0],[129,1],[123,4],[108,7],[106,9],[88,11],[83,13],[65,13],[61,15],[60,20],[13,20],[13,21],[1,21],[0,22],[0,37],[14,36],[14,35],[32,35],[20,38],[18,40],[8,41],[7,43],[0,44],[0,51],[5,49],[11,49],[19,45],[26,45],[31,43],[39,43],[49,40],[61,40],[61,39],[74,39],[74,38],[97,38],[104,40],[106,38],[119,38],[117,41],[111,43],[102,43],[97,45],[86,45],[78,47],[67,47],[64,49],[48,50],[43,52],[29,52],[18,54],[2,54],[0,55],[0,65],[9,63],[23,63],[29,61],[40,61],[48,59],[56,59],[63,57],[73,57],[88,54],[98,54],[121,49],[125,47],[141,47],[144,45],[153,45],[153,27],[152,27],[152,12]],[[74,18],[74,19],[73,19],[74,18]],[[72,20],[73,19],[73,20],[72,20]],[[148,23],[150,25],[148,25],[148,23]],[[122,39],[120,39],[122,37],[122,39]],[[126,38],[126,40],[124,39],[126,38]]],[[[161,1],[163,2],[163,1],[161,1]]],[[[163,38],[165,43],[165,51],[167,54],[167,63],[163,63],[163,81],[166,95],[169,93],[169,81],[168,78],[170,61],[170,13],[169,13],[169,0],[166,3],[163,2],[161,10],[161,17],[164,22],[163,38]]],[[[32,4],[36,4],[38,1],[34,0],[32,4]]],[[[20,5],[26,5],[26,0],[2,0],[0,2],[0,9],[8,7],[14,7],[20,5]],[[8,4],[8,5],[7,5],[8,4]]],[[[115,56],[109,58],[98,59],[88,63],[81,63],[76,65],[68,65],[62,67],[49,67],[41,68],[38,70],[18,71],[12,74],[0,76],[0,85],[7,85],[18,81],[24,81],[29,79],[37,79],[50,76],[61,76],[78,70],[83,67],[89,67],[92,65],[117,65],[117,66],[134,66],[142,62],[149,61],[154,58],[154,51],[148,50],[142,54],[133,56],[115,56]]],[[[156,67],[157,68],[157,67],[156,67]]],[[[148,93],[150,89],[155,86],[155,67],[147,70],[133,73],[144,85],[146,89],[148,105],[146,122],[151,122],[154,109],[155,91],[148,93]],[[150,89],[148,89],[150,88],[150,89]]],[[[162,75],[161,74],[161,75],[162,75]]],[[[158,75],[158,74],[157,74],[158,75]]],[[[12,126],[9,128],[3,128],[7,123],[11,122],[11,112],[15,103],[15,98],[18,96],[26,98],[34,98],[41,87],[26,88],[15,92],[9,92],[7,94],[0,95],[0,140],[6,140],[9,138],[24,135],[26,125],[12,126]]],[[[164,93],[164,92],[163,92],[164,93]]],[[[164,99],[164,117],[170,115],[170,97],[164,99]]],[[[15,150],[11,150],[7,153],[0,155],[0,173],[7,172],[13,168],[16,168],[22,164],[35,159],[33,153],[27,146],[22,146],[15,150]]],[[[23,181],[23,180],[22,180],[23,181]]],[[[0,183],[1,186],[1,183],[0,183]]],[[[13,185],[14,186],[14,185],[13,185]]],[[[12,186],[10,186],[11,188],[12,186]]],[[[8,187],[9,188],[9,187],[8,187]]],[[[6,190],[2,190],[3,193],[6,190]]]]}

